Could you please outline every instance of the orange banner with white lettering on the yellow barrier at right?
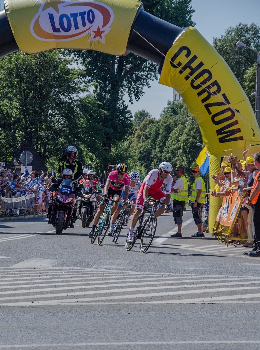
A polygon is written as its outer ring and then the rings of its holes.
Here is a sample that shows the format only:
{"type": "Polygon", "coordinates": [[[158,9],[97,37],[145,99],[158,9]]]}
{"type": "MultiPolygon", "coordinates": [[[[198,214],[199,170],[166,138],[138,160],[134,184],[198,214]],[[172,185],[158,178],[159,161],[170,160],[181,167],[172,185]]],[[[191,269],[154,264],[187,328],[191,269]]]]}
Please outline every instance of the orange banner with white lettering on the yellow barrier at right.
{"type": "Polygon", "coordinates": [[[225,196],[219,208],[216,221],[223,226],[232,226],[242,201],[243,198],[239,196],[237,191],[232,191],[230,195],[225,196]]]}

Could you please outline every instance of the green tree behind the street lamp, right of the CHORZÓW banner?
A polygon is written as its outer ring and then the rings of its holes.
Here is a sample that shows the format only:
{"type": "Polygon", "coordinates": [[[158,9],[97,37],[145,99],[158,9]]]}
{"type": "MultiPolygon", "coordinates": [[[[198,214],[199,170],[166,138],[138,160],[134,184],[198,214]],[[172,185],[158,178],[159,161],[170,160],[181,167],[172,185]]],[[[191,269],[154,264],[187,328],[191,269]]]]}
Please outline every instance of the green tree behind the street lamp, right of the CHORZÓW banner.
{"type": "MultiPolygon", "coordinates": [[[[213,46],[229,64],[246,94],[250,95],[255,91],[256,70],[252,74],[252,66],[257,61],[257,54],[249,49],[236,49],[238,41],[260,50],[260,27],[255,23],[240,22],[235,27],[229,27],[225,35],[213,38],[213,46]]],[[[251,103],[254,108],[254,101],[251,100],[251,103]]]]}

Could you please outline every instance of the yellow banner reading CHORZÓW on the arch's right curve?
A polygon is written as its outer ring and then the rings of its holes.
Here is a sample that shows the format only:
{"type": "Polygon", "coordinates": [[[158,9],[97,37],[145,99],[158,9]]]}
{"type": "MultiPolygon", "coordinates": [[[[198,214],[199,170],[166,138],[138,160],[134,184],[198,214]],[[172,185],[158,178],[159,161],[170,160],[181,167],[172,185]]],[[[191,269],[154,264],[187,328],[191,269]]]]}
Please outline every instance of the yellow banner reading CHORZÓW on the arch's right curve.
{"type": "Polygon", "coordinates": [[[245,140],[253,136],[260,140],[244,90],[224,59],[195,28],[189,27],[176,38],[159,82],[182,95],[210,154],[233,148],[241,157],[245,140]]]}

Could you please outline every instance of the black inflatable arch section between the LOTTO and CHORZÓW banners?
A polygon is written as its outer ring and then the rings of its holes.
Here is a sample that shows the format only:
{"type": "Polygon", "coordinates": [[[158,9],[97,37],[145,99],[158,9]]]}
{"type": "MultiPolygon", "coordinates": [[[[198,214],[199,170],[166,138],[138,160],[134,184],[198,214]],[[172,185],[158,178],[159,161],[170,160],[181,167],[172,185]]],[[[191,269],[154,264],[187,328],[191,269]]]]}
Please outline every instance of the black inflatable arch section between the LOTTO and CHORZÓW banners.
{"type": "Polygon", "coordinates": [[[149,59],[157,64],[164,62],[164,55],[172,47],[175,38],[183,31],[183,28],[165,22],[150,13],[141,11],[133,22],[128,39],[127,51],[149,59]],[[136,33],[137,32],[137,33],[136,33]],[[145,41],[144,37],[147,41],[145,41]],[[152,45],[162,52],[158,52],[152,45]]]}

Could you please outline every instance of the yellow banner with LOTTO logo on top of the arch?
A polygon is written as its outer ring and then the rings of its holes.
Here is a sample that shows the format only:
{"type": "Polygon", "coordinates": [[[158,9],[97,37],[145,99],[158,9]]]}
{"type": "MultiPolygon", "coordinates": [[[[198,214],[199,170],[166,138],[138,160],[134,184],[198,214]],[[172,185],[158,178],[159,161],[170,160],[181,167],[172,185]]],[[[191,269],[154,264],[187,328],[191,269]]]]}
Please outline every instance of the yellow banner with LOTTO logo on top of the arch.
{"type": "Polygon", "coordinates": [[[57,48],[125,55],[137,0],[6,0],[15,41],[27,54],[57,48]]]}

